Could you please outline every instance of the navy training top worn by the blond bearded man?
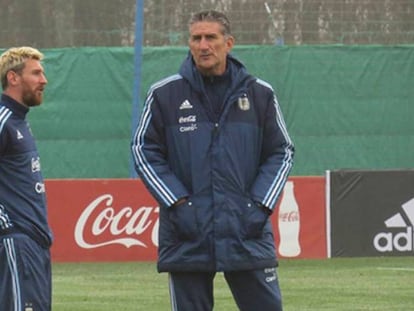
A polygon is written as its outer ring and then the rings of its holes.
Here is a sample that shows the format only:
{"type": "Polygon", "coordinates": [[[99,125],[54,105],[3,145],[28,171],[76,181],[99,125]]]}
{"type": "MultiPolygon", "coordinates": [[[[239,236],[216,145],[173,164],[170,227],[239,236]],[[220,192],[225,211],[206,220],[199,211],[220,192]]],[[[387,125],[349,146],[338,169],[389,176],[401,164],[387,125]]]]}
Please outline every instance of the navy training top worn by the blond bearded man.
{"type": "Polygon", "coordinates": [[[30,126],[29,109],[11,97],[0,102],[0,235],[20,232],[42,247],[52,244],[45,184],[30,126]]]}

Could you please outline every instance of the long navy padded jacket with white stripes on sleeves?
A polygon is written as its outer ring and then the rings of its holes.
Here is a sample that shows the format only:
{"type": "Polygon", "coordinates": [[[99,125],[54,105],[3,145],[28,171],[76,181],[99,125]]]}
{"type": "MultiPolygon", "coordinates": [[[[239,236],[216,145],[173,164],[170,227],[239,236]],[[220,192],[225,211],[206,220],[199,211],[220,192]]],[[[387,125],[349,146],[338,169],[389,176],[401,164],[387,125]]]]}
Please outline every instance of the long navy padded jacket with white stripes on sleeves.
{"type": "Polygon", "coordinates": [[[161,272],[277,264],[258,203],[274,208],[293,144],[271,86],[230,55],[227,64],[232,82],[218,122],[189,55],[179,74],[150,88],[133,137],[137,173],[160,206],[161,272]]]}

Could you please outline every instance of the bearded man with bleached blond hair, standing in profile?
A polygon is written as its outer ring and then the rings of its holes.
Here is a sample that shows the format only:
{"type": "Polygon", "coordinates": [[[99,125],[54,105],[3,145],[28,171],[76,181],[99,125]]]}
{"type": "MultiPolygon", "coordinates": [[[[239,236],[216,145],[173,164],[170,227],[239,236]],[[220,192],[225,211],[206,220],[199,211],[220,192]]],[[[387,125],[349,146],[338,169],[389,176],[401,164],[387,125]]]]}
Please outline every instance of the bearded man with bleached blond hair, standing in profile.
{"type": "Polygon", "coordinates": [[[31,47],[0,56],[0,309],[51,310],[52,233],[45,184],[26,120],[43,101],[43,54],[31,47]]]}

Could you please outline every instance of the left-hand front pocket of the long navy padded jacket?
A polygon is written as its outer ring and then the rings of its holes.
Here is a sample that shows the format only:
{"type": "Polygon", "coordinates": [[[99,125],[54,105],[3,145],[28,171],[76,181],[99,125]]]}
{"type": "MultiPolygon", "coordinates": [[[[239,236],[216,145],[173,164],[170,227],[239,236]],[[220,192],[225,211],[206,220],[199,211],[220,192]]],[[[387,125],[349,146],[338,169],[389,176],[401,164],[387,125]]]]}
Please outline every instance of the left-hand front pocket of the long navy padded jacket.
{"type": "Polygon", "coordinates": [[[170,221],[179,240],[192,241],[197,239],[199,233],[197,209],[190,199],[171,209],[170,221]]]}

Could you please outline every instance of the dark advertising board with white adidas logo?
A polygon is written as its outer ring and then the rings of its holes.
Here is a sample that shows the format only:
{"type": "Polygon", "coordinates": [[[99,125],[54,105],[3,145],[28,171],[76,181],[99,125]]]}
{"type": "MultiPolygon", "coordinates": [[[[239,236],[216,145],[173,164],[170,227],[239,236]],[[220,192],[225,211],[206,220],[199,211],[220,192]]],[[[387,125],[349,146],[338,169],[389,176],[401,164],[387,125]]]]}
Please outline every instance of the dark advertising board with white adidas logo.
{"type": "Polygon", "coordinates": [[[328,256],[414,255],[414,170],[327,173],[328,256]]]}

